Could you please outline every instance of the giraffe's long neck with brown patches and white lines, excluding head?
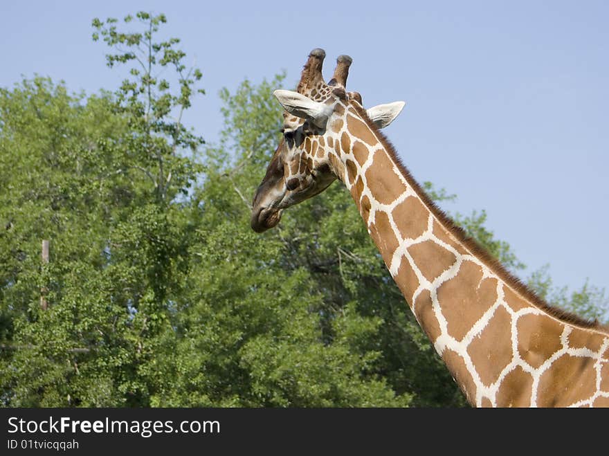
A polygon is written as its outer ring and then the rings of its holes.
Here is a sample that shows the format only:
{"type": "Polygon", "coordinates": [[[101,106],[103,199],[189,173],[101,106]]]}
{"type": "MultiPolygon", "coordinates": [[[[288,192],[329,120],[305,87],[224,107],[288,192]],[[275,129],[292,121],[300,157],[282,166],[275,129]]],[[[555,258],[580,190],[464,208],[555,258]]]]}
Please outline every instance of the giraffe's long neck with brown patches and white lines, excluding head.
{"type": "Polygon", "coordinates": [[[345,111],[333,126],[334,168],[471,405],[609,406],[606,330],[534,302],[448,225],[363,110],[345,111]]]}

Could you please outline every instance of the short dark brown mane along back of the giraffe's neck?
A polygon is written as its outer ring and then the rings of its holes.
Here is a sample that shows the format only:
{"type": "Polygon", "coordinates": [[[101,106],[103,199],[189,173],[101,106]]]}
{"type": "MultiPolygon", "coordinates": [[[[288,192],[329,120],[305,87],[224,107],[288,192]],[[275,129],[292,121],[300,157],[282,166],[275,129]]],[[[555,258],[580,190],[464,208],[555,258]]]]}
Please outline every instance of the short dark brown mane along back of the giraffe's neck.
{"type": "Polygon", "coordinates": [[[396,163],[398,169],[403,175],[404,179],[412,186],[415,192],[421,198],[421,201],[427,206],[427,208],[432,212],[432,214],[440,221],[442,225],[460,241],[464,246],[471,251],[475,257],[478,257],[486,266],[488,266],[493,273],[495,273],[507,286],[511,287],[513,291],[519,293],[523,297],[525,297],[531,304],[533,304],[538,309],[544,311],[561,320],[565,323],[576,325],[584,328],[597,329],[599,331],[603,331],[604,333],[609,332],[609,327],[605,325],[600,325],[597,320],[590,321],[582,318],[581,316],[576,315],[575,313],[570,313],[560,309],[558,307],[552,306],[545,302],[542,298],[540,298],[532,289],[529,288],[526,284],[524,284],[518,277],[510,273],[505,266],[503,266],[498,259],[493,257],[489,251],[478,244],[478,241],[473,239],[473,237],[467,235],[467,233],[461,228],[457,226],[451,217],[448,217],[446,213],[441,210],[436,203],[434,203],[429,197],[425,190],[419,185],[419,183],[415,180],[415,178],[410,174],[405,165],[403,165],[401,158],[398,156],[395,151],[393,145],[390,141],[385,137],[385,135],[379,131],[379,129],[374,125],[374,123],[368,118],[367,113],[363,107],[361,107],[358,103],[349,103],[358,113],[359,116],[363,120],[365,120],[367,126],[374,131],[374,134],[381,140],[381,144],[385,147],[385,150],[390,154],[392,160],[396,163]]]}

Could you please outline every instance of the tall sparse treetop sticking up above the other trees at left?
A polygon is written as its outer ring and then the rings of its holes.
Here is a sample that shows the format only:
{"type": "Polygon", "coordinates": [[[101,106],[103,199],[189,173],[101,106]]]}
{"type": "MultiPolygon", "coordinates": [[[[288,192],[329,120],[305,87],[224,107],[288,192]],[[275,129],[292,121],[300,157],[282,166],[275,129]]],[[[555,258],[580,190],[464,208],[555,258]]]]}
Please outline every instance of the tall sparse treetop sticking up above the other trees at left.
{"type": "Polygon", "coordinates": [[[127,119],[131,138],[127,147],[133,154],[132,167],[149,178],[158,201],[172,201],[177,192],[187,189],[200,171],[191,157],[179,152],[187,149],[196,154],[203,138],[184,127],[182,116],[192,104],[194,93],[205,93],[195,84],[203,73],[184,64],[186,54],[176,48],[179,38],[156,41],[158,29],[167,22],[165,15],[150,15],[140,11],[134,18],[125,17],[125,26],[138,21],[143,32],[124,32],[118,20],[93,19],[93,40],[100,36],[117,53],[107,54],[107,65],[130,64],[129,77],[116,91],[118,112],[127,119]],[[167,69],[173,69],[171,84],[167,69]],[[187,71],[188,70],[188,71],[187,71]],[[159,77],[163,74],[165,77],[159,77]],[[174,85],[178,88],[173,90],[174,85]]]}

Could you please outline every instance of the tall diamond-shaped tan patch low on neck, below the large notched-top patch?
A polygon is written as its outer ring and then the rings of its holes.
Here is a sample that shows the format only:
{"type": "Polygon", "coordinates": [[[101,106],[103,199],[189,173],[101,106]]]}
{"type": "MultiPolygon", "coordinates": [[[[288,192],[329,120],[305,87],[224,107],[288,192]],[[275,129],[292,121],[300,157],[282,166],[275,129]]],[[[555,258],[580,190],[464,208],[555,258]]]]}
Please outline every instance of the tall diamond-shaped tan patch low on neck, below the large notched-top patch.
{"type": "Polygon", "coordinates": [[[513,358],[511,318],[505,308],[496,309],[482,333],[473,338],[467,352],[482,383],[487,386],[495,383],[513,358]]]}

